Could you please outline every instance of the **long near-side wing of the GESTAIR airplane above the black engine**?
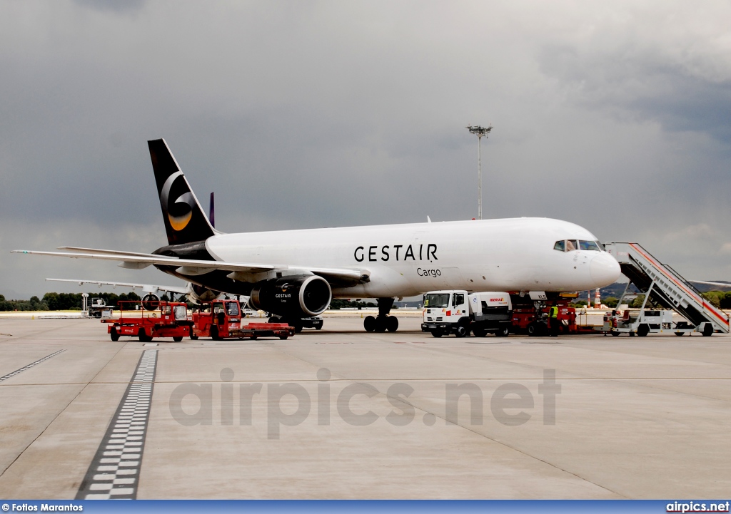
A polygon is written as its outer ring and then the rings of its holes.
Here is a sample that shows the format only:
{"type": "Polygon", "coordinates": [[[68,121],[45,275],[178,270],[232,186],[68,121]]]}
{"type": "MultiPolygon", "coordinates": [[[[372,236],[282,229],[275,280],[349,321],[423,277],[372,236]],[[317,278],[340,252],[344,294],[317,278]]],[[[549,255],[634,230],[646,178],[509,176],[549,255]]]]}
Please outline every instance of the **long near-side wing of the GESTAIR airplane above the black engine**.
{"type": "MultiPolygon", "coordinates": [[[[67,247],[69,248],[69,247],[67,247]]],[[[105,261],[121,261],[119,266],[128,269],[143,269],[151,264],[159,266],[175,266],[181,275],[203,275],[214,269],[221,269],[232,273],[232,278],[247,280],[257,273],[302,270],[319,275],[330,283],[346,287],[370,280],[371,272],[367,269],[349,268],[322,268],[317,266],[287,266],[283,264],[242,263],[227,261],[200,261],[170,256],[159,256],[152,253],[118,252],[115,250],[97,250],[94,248],[75,248],[76,252],[43,252],[37,250],[12,250],[11,253],[27,253],[41,256],[91,258],[105,261]],[[235,275],[238,275],[236,277],[235,275]]]]}

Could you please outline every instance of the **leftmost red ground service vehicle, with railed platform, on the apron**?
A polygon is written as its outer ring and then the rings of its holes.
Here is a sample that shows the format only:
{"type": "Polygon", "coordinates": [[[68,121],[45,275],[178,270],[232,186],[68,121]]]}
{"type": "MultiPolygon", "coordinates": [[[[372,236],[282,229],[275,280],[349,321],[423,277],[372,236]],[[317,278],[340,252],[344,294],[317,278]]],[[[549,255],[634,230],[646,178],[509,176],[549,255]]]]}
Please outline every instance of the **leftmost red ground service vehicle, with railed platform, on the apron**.
{"type": "Polygon", "coordinates": [[[113,341],[121,336],[139,337],[150,342],[154,337],[172,337],[182,341],[190,333],[188,308],[182,302],[118,302],[119,318],[105,319],[107,333],[113,341]]]}

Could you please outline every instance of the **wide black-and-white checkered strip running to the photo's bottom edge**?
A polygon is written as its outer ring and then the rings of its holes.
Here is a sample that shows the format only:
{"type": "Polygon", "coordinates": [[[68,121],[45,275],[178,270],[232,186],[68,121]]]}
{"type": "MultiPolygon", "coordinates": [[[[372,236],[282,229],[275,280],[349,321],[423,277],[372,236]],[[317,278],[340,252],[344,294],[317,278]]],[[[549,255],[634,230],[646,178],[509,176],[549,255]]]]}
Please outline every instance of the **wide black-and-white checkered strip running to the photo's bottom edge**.
{"type": "Polygon", "coordinates": [[[155,381],[157,351],[145,350],[96,450],[76,499],[135,499],[155,381]]]}

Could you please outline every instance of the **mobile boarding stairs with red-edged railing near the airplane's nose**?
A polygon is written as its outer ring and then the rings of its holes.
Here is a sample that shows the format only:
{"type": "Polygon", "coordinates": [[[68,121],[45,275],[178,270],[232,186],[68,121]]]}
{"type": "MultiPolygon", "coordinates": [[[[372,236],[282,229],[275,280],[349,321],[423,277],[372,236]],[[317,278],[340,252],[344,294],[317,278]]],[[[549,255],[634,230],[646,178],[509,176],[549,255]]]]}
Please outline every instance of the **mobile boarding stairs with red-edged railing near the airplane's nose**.
{"type": "Polygon", "coordinates": [[[618,323],[612,329],[612,335],[626,332],[645,336],[649,332],[665,331],[672,331],[678,336],[690,332],[700,332],[704,336],[710,336],[713,332],[729,333],[729,317],[725,312],[713,307],[694,285],[636,242],[609,242],[605,248],[617,259],[624,276],[629,278],[627,288],[630,283],[634,283],[645,294],[640,314],[618,323]],[[657,303],[678,312],[688,321],[678,321],[673,326],[672,318],[664,315],[663,311],[645,311],[645,304],[651,294],[657,303]]]}

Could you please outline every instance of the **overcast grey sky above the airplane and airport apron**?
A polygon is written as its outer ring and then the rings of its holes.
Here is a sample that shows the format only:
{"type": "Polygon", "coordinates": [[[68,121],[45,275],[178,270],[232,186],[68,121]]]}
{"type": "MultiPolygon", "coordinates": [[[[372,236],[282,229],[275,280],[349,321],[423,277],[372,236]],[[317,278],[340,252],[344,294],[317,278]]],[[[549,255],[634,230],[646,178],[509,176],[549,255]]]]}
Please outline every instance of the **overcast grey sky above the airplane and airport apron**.
{"type": "Polygon", "coordinates": [[[545,216],[731,280],[727,1],[0,4],[0,294],[178,284],[146,141],[223,231],[545,216]]]}

